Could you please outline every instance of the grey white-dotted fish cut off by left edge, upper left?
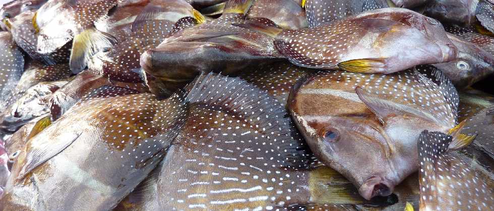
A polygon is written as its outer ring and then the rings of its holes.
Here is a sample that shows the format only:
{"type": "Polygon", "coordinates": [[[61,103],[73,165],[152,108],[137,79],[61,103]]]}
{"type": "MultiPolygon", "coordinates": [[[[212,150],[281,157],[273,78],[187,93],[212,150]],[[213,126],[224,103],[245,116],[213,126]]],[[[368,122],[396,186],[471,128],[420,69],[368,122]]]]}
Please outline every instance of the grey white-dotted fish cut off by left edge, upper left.
{"type": "Polygon", "coordinates": [[[0,112],[12,103],[15,87],[24,71],[24,56],[10,32],[0,32],[0,112]]]}

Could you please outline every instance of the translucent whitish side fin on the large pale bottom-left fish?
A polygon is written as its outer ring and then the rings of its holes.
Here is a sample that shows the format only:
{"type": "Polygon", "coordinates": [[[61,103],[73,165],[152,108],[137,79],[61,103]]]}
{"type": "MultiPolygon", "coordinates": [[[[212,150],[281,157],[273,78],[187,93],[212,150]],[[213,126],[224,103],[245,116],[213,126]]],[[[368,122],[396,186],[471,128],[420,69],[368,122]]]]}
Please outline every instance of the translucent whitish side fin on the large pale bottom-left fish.
{"type": "Polygon", "coordinates": [[[27,153],[25,159],[26,162],[22,166],[17,179],[24,178],[33,169],[63,151],[74,141],[76,141],[81,136],[81,134],[82,132],[72,134],[68,133],[67,136],[64,136],[63,139],[60,138],[53,140],[44,140],[36,143],[35,145],[32,142],[29,142],[28,145],[32,147],[32,150],[27,153]]]}

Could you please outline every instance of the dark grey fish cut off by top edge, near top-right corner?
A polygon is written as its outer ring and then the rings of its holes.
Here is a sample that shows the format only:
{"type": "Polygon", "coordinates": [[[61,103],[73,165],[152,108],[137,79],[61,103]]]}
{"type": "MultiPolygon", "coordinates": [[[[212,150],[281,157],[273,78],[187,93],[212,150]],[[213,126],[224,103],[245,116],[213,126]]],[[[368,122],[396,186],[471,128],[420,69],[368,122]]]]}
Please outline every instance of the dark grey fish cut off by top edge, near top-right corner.
{"type": "Polygon", "coordinates": [[[479,0],[433,0],[425,5],[424,15],[443,24],[468,27],[476,22],[479,0]]]}

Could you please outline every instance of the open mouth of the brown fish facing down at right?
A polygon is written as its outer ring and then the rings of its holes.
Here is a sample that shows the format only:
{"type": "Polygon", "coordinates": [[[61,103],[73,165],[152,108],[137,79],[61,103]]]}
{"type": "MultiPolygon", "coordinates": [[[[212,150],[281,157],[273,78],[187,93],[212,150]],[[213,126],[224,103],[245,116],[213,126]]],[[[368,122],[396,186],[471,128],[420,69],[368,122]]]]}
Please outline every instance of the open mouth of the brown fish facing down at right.
{"type": "Polygon", "coordinates": [[[358,188],[358,193],[366,200],[370,200],[375,196],[389,196],[393,193],[393,189],[392,181],[379,176],[372,176],[358,188]]]}

